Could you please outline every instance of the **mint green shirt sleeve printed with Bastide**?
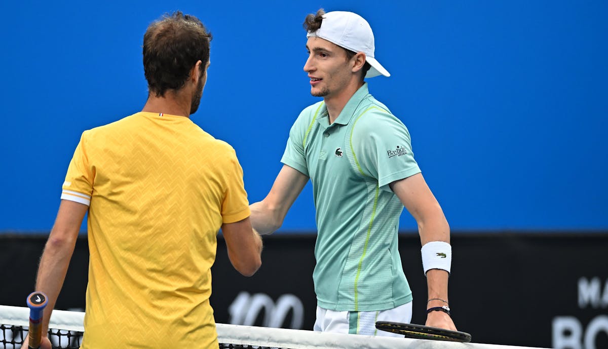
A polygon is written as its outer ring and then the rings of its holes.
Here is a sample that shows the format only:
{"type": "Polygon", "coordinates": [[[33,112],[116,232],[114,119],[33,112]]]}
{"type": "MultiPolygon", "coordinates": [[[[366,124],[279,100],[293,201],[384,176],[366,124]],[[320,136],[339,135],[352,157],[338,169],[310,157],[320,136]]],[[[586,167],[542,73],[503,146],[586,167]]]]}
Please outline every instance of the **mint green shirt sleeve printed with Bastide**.
{"type": "Polygon", "coordinates": [[[421,172],[406,125],[380,108],[356,120],[353,152],[359,171],[378,179],[378,187],[387,192],[390,183],[421,172]]]}

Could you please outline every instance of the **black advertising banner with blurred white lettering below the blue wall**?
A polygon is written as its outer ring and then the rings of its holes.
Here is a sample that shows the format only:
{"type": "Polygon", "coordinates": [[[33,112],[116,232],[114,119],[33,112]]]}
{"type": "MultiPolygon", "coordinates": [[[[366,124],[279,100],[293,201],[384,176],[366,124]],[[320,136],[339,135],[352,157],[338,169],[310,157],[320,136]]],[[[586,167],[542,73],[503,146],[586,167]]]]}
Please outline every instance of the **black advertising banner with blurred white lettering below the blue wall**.
{"type": "MultiPolygon", "coordinates": [[[[25,306],[46,237],[0,235],[0,304],[25,306]]],[[[216,322],[313,328],[315,235],[264,237],[253,277],[232,268],[218,240],[211,303],[216,322]]],[[[608,233],[452,233],[449,301],[458,330],[474,342],[608,348],[608,233]]],[[[414,295],[413,323],[426,319],[420,240],[399,237],[414,295]]],[[[78,239],[57,309],[83,309],[86,237],[78,239]]]]}

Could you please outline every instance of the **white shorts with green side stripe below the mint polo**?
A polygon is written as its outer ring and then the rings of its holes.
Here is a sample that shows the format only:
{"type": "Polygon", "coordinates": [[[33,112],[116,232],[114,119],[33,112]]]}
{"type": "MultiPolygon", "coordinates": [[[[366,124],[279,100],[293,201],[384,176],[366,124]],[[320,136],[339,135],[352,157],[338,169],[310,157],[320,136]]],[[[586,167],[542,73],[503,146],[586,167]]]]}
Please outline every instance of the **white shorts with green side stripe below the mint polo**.
{"type": "Polygon", "coordinates": [[[381,311],[334,311],[317,306],[314,330],[330,333],[367,334],[368,336],[403,337],[402,334],[376,330],[376,321],[410,323],[412,302],[381,311]]]}

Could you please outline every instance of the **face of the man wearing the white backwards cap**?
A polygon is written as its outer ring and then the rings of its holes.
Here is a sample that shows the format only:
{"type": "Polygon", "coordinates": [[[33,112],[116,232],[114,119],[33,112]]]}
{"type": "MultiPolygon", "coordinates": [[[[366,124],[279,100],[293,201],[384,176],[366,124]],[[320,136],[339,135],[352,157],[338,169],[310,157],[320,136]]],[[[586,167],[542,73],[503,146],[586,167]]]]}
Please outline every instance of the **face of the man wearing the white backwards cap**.
{"type": "Polygon", "coordinates": [[[311,36],[306,42],[308,60],[304,71],[310,78],[310,93],[315,97],[338,95],[350,82],[353,72],[346,51],[330,41],[311,36]]]}

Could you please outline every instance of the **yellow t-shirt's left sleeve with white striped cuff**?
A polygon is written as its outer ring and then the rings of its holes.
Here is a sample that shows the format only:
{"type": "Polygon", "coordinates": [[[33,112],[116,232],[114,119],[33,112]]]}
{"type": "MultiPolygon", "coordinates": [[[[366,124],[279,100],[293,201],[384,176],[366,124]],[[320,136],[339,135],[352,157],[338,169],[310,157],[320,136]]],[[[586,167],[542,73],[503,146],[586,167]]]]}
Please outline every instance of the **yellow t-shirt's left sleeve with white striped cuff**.
{"type": "Polygon", "coordinates": [[[93,192],[94,169],[89,164],[86,152],[86,131],[74,151],[74,156],[67,167],[66,179],[63,182],[61,199],[91,205],[93,192]]]}

